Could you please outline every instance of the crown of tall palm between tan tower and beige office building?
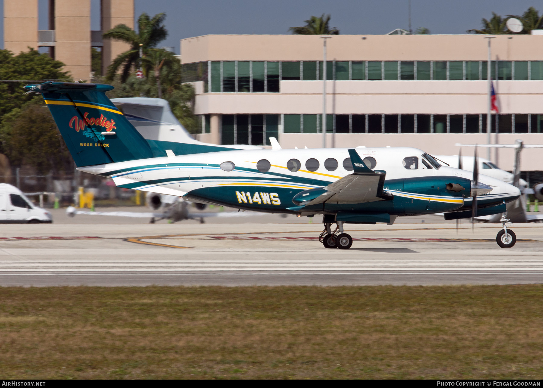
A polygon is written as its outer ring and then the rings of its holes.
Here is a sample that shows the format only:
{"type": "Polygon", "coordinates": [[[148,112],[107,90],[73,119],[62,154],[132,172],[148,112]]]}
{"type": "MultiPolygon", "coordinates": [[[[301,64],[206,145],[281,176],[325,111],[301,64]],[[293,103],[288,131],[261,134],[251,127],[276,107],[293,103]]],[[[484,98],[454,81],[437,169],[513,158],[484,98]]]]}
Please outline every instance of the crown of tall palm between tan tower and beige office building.
{"type": "Polygon", "coordinates": [[[126,24],[117,24],[102,35],[104,38],[116,39],[130,44],[130,49],[117,55],[110,64],[106,80],[111,82],[121,67],[121,81],[127,80],[130,70],[138,67],[140,62],[140,44],[145,57],[149,49],[154,48],[168,36],[168,31],[163,25],[165,19],[166,14],[156,14],[151,18],[146,12],[143,12],[137,19],[138,33],[126,24]]]}

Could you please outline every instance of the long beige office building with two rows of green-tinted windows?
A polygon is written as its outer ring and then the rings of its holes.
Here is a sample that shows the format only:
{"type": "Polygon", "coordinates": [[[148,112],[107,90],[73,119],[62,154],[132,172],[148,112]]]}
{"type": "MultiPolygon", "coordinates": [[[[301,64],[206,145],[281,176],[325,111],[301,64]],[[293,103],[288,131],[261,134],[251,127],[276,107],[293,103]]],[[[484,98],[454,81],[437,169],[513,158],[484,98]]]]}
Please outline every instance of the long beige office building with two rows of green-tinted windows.
{"type": "MultiPolygon", "coordinates": [[[[413,146],[439,155],[458,153],[455,143],[487,143],[487,42],[484,35],[332,36],[327,147],[413,146]]],[[[500,108],[491,141],[543,144],[543,36],[502,35],[491,43],[500,108]]],[[[202,119],[199,138],[269,145],[273,135],[285,148],[320,147],[322,60],[318,35],[181,40],[184,81],[195,86],[202,119]]],[[[491,159],[513,168],[510,150],[491,159]]],[[[543,171],[541,151],[523,151],[522,170],[543,171]]]]}

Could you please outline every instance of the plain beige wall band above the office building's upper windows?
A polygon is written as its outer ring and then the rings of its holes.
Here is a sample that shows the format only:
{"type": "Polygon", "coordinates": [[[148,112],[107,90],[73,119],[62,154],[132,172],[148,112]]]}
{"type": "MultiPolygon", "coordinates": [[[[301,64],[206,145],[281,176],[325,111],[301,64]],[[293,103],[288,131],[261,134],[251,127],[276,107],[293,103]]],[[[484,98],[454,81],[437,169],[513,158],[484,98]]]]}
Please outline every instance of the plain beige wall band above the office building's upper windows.
{"type": "MultiPolygon", "coordinates": [[[[181,62],[320,61],[323,35],[202,35],[181,40],[181,62]]],[[[331,61],[543,61],[543,35],[326,35],[331,61]]]]}

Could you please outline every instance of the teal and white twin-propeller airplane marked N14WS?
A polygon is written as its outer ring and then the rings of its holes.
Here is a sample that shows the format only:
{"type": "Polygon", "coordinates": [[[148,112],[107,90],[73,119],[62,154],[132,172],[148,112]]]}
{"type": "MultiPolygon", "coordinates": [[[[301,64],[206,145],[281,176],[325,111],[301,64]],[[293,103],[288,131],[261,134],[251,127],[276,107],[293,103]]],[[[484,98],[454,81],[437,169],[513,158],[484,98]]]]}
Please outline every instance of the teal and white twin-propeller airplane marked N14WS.
{"type": "MultiPolygon", "coordinates": [[[[393,224],[397,216],[444,212],[445,219],[500,214],[520,196],[501,180],[441,165],[416,148],[233,150],[146,140],[104,92],[109,85],[44,82],[41,93],[80,171],[129,189],[243,210],[323,215],[320,241],[348,249],[345,224],[393,224]],[[337,227],[332,231],[331,227],[337,227]]],[[[512,247],[513,231],[496,241],[512,247]]]]}

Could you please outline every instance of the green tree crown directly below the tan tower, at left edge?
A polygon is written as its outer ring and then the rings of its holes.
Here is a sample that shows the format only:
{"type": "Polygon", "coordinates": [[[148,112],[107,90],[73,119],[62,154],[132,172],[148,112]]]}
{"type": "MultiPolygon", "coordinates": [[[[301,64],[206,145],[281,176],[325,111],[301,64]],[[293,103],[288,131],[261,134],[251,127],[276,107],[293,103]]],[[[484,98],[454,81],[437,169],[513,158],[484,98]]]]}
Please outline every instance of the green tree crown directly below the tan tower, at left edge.
{"type": "Polygon", "coordinates": [[[5,114],[22,107],[32,98],[30,95],[23,95],[23,85],[46,80],[71,80],[70,75],[62,71],[62,66],[64,63],[34,49],[18,55],[8,50],[0,50],[0,80],[25,80],[0,82],[0,122],[5,114]]]}

